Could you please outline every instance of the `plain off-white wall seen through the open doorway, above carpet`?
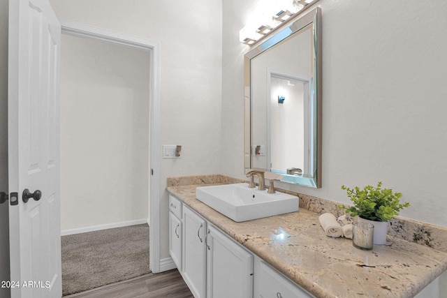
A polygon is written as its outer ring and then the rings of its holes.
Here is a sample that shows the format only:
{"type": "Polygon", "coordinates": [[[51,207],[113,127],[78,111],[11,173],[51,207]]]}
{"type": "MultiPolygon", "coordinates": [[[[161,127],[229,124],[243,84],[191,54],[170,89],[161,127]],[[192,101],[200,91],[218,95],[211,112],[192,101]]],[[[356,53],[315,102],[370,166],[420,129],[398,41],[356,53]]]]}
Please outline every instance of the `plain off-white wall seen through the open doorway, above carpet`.
{"type": "Polygon", "coordinates": [[[148,218],[149,60],[62,34],[61,230],[148,218]]]}

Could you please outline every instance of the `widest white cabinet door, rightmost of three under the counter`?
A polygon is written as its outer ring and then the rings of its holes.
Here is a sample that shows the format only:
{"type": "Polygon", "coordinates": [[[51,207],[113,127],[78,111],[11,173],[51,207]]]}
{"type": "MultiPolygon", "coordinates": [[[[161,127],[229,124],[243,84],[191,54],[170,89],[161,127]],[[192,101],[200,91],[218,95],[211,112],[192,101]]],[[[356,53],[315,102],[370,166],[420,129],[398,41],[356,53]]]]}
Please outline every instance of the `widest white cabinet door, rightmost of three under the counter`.
{"type": "Polygon", "coordinates": [[[253,255],[213,226],[205,240],[207,298],[253,297],[253,255]]]}

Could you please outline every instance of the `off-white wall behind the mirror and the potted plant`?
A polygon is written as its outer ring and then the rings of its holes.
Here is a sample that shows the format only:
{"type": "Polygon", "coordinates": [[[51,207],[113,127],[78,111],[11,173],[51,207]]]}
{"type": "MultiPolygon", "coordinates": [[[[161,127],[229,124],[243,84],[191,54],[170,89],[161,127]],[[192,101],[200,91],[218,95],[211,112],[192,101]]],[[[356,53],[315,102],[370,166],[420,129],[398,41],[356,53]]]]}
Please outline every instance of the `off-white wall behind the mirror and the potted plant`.
{"type": "MultiPolygon", "coordinates": [[[[242,56],[249,50],[239,42],[239,30],[261,2],[223,1],[223,151],[231,153],[222,172],[236,177],[243,174],[242,154],[235,152],[244,150],[242,56]]],[[[447,226],[447,3],[419,4],[318,2],[323,17],[322,188],[293,189],[349,202],[342,184],[383,181],[411,203],[402,216],[447,226]]]]}

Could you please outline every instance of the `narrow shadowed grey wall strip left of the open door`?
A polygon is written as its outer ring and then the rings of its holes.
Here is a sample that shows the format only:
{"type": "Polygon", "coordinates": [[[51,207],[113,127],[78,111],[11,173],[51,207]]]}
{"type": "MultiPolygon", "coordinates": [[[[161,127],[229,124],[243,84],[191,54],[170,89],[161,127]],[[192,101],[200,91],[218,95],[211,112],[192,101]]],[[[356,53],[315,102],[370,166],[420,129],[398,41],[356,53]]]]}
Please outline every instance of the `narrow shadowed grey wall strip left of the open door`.
{"type": "MultiPolygon", "coordinates": [[[[0,0],[0,191],[8,193],[8,0],[0,0]]],[[[0,204],[0,281],[10,279],[8,204],[0,204]]],[[[0,297],[8,296],[0,288],[0,297]]]]}

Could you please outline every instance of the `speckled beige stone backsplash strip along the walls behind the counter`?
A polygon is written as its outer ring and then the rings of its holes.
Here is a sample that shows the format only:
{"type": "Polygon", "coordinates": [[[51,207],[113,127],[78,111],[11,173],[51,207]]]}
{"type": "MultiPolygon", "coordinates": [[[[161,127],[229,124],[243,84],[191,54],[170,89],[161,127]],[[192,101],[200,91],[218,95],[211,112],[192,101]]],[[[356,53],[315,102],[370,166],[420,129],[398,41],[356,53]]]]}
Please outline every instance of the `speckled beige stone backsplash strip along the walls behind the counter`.
{"type": "MultiPolygon", "coordinates": [[[[243,179],[228,177],[222,174],[207,174],[195,176],[169,177],[168,186],[183,186],[193,184],[234,184],[247,182],[243,179]]],[[[293,191],[284,191],[278,188],[277,191],[297,195],[300,198],[300,208],[314,211],[318,214],[329,212],[335,216],[340,216],[343,211],[337,209],[337,202],[322,198],[303,195],[293,191]]],[[[390,221],[388,234],[409,242],[414,242],[423,246],[434,248],[447,253],[447,228],[423,223],[409,218],[395,216],[390,221]]]]}

